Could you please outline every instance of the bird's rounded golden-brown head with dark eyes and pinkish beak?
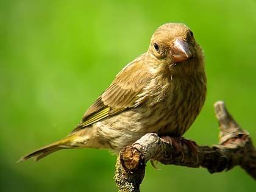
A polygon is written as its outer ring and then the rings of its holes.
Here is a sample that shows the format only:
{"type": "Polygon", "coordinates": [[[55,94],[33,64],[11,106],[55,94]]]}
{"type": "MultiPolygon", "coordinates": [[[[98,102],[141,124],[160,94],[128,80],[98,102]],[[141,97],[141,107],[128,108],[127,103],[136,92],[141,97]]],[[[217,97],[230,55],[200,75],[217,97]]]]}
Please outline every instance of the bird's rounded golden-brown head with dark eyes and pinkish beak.
{"type": "Polygon", "coordinates": [[[204,68],[204,54],[193,32],[181,23],[166,23],[152,35],[146,54],[155,69],[169,69],[172,74],[192,73],[204,68]]]}

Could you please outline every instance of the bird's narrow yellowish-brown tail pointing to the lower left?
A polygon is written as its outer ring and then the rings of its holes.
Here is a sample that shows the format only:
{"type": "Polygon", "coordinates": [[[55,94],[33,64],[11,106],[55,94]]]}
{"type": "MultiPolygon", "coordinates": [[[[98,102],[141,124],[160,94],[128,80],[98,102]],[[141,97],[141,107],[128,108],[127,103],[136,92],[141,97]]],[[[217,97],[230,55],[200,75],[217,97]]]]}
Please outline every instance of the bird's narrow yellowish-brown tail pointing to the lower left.
{"type": "Polygon", "coordinates": [[[29,160],[30,158],[35,158],[35,160],[40,160],[43,157],[51,154],[52,152],[59,151],[60,149],[68,149],[68,148],[75,148],[75,146],[71,146],[72,141],[74,140],[75,135],[69,135],[62,140],[49,144],[48,146],[44,146],[43,148],[38,149],[30,154],[21,157],[17,163],[23,162],[25,160],[29,160]]]}

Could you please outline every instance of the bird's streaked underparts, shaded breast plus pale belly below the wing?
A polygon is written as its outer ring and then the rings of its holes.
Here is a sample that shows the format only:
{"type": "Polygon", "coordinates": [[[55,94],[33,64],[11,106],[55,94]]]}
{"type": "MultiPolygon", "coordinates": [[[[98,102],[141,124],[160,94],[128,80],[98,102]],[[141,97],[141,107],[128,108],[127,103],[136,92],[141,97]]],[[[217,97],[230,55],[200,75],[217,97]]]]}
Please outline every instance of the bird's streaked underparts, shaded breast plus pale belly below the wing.
{"type": "Polygon", "coordinates": [[[145,91],[146,101],[129,108],[93,127],[97,130],[100,148],[119,152],[146,133],[179,137],[194,122],[205,98],[200,81],[176,81],[169,84],[152,82],[145,91]]]}

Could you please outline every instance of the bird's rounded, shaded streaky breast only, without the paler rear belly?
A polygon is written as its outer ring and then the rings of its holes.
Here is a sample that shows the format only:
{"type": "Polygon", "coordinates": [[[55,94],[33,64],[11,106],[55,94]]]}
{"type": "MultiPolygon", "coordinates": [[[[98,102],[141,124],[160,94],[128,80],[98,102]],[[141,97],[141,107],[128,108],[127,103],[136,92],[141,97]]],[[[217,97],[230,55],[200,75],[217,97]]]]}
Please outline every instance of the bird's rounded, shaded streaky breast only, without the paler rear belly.
{"type": "Polygon", "coordinates": [[[191,126],[205,100],[205,82],[200,78],[174,79],[155,86],[143,112],[143,127],[148,132],[179,137],[191,126]]]}

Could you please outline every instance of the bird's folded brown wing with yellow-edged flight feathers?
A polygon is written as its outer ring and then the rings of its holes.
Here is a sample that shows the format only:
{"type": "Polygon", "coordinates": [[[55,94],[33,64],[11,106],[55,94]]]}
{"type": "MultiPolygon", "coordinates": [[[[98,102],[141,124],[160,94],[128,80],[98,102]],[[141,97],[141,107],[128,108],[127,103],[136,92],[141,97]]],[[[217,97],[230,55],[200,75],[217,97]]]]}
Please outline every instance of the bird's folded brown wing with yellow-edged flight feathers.
{"type": "Polygon", "coordinates": [[[110,87],[88,108],[81,123],[71,133],[145,101],[140,93],[151,80],[151,74],[143,60],[144,55],[141,55],[117,74],[110,87]]]}

